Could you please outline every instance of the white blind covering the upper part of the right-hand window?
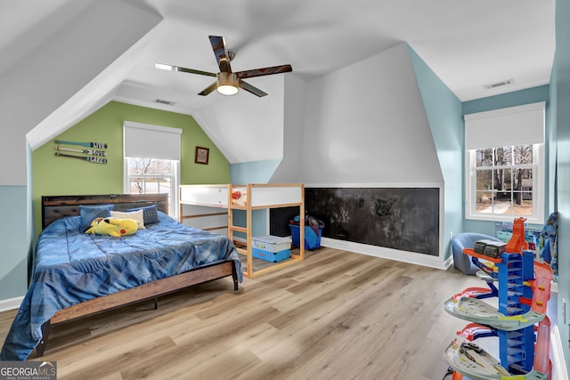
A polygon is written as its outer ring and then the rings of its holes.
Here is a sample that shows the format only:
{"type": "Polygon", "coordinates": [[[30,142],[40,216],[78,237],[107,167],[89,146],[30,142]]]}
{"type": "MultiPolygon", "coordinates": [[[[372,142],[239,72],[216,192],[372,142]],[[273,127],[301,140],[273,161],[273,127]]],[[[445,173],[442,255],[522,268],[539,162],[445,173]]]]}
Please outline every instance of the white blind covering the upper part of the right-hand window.
{"type": "Polygon", "coordinates": [[[544,101],[465,115],[465,149],[544,143],[544,101]]]}

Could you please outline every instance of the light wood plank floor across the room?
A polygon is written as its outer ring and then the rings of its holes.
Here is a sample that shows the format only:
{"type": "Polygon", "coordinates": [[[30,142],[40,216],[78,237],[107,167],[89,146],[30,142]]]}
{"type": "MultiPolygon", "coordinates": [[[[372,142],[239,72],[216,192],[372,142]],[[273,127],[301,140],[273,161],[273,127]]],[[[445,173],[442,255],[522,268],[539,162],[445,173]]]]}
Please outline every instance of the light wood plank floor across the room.
{"type": "MultiPolygon", "coordinates": [[[[157,311],[141,303],[54,327],[43,360],[61,380],[440,380],[466,324],[444,300],[480,285],[323,247],[238,292],[220,279],[160,298],[157,311]]],[[[0,313],[0,342],[14,315],[0,313]]]]}

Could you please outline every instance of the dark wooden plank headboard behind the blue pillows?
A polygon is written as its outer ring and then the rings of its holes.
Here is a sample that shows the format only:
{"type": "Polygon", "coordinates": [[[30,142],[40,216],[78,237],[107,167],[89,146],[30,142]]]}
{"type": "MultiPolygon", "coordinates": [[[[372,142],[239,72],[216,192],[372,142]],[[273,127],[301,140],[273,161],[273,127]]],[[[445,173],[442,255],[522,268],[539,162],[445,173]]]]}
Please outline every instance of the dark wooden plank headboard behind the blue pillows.
{"type": "Polygon", "coordinates": [[[79,215],[79,206],[113,204],[117,211],[157,205],[168,214],[168,194],[50,195],[42,197],[42,229],[65,216],[79,215]]]}

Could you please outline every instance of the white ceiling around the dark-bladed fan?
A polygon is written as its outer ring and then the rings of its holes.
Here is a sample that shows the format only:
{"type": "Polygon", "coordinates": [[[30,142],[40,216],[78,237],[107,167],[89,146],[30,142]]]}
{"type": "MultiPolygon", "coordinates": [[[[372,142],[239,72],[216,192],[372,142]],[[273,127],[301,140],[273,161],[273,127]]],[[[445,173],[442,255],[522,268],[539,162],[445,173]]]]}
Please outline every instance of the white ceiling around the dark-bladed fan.
{"type": "MultiPolygon", "coordinates": [[[[208,35],[225,37],[236,53],[234,71],[289,63],[293,73],[279,75],[306,81],[407,42],[461,101],[548,84],[555,50],[555,0],[124,1],[164,20],[132,61],[115,99],[188,114],[223,96],[197,95],[213,78],[155,69],[154,63],[217,72],[208,35]],[[512,85],[484,88],[510,79],[512,85]],[[175,107],[152,103],[157,98],[175,107]]],[[[0,3],[0,73],[91,3],[0,3]]],[[[248,82],[264,90],[272,80],[248,82]]]]}

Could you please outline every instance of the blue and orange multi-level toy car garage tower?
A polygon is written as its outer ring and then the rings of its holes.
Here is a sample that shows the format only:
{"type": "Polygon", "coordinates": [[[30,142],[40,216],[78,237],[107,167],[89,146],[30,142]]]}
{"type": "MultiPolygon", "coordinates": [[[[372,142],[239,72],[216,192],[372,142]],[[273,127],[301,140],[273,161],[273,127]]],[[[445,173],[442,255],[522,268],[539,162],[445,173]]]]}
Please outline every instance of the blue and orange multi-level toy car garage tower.
{"type": "Polygon", "coordinates": [[[469,287],[444,303],[452,316],[471,322],[444,352],[454,370],[452,380],[550,380],[546,310],[552,270],[535,262],[533,252],[527,250],[524,222],[524,218],[515,220],[501,255],[463,251],[481,269],[477,276],[488,287],[469,287]],[[498,298],[498,308],[483,301],[492,297],[498,298]],[[475,343],[489,336],[499,338],[499,360],[475,343]]]}

